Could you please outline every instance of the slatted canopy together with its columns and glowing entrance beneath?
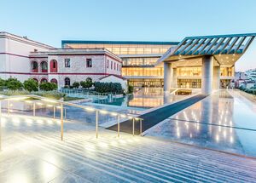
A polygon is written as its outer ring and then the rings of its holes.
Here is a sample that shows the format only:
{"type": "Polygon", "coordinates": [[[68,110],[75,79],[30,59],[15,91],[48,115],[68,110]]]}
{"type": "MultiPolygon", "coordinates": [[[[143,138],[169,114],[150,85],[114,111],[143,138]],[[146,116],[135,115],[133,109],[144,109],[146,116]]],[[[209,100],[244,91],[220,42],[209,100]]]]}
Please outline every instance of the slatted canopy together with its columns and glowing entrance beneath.
{"type": "Polygon", "coordinates": [[[235,63],[253,42],[256,33],[185,37],[163,54],[164,91],[171,88],[201,88],[201,94],[229,88],[235,63]]]}

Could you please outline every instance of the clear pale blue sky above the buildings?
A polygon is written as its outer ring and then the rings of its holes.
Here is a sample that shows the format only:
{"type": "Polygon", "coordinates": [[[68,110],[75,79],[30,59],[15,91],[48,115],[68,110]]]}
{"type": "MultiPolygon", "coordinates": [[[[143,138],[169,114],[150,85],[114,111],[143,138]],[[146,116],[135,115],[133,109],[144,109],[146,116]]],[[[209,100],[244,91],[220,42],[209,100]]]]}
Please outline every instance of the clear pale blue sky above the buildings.
{"type": "MultiPolygon", "coordinates": [[[[256,0],[8,0],[0,31],[61,47],[62,39],[180,41],[256,32],[256,0]]],[[[236,64],[256,68],[256,41],[236,64]]]]}

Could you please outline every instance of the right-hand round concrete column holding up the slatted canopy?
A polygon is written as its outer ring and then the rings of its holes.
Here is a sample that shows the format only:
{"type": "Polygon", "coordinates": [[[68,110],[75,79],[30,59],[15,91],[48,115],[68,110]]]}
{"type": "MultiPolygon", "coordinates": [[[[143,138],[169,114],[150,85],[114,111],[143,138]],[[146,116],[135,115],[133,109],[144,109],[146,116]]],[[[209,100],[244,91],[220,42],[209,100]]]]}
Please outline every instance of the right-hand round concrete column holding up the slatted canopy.
{"type": "Polygon", "coordinates": [[[213,56],[206,55],[202,58],[201,71],[201,94],[212,94],[213,56]]]}

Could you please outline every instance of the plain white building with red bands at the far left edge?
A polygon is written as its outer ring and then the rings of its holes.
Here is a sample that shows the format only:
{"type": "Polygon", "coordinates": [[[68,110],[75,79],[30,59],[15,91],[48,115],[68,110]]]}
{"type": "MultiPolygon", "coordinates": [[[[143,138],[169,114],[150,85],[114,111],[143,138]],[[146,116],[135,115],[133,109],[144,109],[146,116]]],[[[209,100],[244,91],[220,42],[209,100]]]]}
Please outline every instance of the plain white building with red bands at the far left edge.
{"type": "Polygon", "coordinates": [[[23,82],[31,77],[30,52],[49,49],[54,48],[26,37],[0,31],[0,77],[16,77],[23,82]]]}

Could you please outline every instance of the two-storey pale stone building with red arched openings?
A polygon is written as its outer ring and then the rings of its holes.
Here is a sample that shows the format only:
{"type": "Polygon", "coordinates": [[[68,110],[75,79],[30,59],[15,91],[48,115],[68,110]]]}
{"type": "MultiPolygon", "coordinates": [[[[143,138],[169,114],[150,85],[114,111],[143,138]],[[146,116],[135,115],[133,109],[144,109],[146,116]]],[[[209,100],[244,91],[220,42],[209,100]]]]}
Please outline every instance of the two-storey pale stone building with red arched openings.
{"type": "Polygon", "coordinates": [[[49,49],[30,54],[32,78],[38,82],[72,85],[90,77],[93,82],[108,75],[121,76],[122,62],[107,49],[49,49]]]}

